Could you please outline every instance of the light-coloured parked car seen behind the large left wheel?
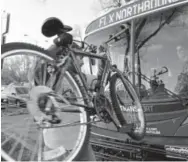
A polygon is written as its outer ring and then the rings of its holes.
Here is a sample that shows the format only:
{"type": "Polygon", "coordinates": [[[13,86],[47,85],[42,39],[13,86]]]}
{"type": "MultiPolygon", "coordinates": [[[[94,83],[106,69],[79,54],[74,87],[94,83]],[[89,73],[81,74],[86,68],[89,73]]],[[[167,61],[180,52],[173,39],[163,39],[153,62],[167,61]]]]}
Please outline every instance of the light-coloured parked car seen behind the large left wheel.
{"type": "Polygon", "coordinates": [[[11,107],[24,107],[27,99],[29,88],[25,86],[11,85],[1,92],[1,104],[8,104],[11,107]]]}

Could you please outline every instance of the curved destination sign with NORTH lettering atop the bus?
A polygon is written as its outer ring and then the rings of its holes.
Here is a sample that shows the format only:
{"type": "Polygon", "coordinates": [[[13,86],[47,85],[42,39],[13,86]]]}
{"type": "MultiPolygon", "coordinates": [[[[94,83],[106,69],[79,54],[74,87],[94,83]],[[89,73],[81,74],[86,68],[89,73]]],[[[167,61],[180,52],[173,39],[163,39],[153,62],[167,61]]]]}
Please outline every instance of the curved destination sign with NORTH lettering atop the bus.
{"type": "Polygon", "coordinates": [[[129,5],[122,6],[110,11],[104,16],[94,20],[86,29],[85,34],[93,33],[99,29],[106,28],[110,25],[129,20],[141,14],[147,14],[151,11],[170,7],[182,3],[188,3],[188,0],[139,0],[129,5]]]}

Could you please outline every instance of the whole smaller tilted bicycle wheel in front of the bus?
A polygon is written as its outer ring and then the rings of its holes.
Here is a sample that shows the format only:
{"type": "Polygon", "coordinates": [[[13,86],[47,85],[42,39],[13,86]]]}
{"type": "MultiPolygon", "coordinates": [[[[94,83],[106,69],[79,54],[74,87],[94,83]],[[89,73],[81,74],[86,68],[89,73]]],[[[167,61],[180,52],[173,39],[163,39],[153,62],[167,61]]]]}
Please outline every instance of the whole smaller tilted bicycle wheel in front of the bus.
{"type": "Polygon", "coordinates": [[[141,140],[145,134],[145,117],[139,98],[128,79],[116,73],[110,81],[110,95],[114,111],[121,125],[133,124],[128,133],[135,140],[141,140]]]}

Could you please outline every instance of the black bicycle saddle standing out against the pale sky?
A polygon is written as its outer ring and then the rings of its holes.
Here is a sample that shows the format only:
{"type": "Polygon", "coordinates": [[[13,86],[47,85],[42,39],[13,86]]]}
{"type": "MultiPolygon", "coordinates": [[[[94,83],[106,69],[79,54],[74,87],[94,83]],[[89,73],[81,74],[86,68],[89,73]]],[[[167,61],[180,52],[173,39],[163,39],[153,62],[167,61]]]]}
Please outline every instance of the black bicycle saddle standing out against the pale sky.
{"type": "Polygon", "coordinates": [[[46,19],[42,25],[42,34],[46,37],[52,37],[71,30],[72,27],[64,25],[62,21],[56,17],[46,19]]]}

